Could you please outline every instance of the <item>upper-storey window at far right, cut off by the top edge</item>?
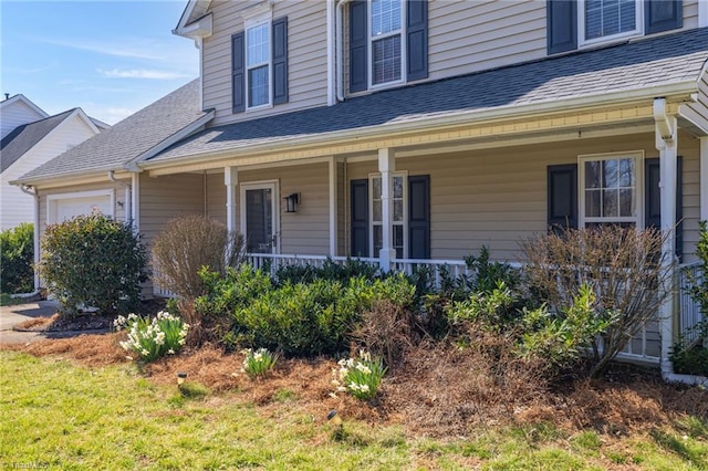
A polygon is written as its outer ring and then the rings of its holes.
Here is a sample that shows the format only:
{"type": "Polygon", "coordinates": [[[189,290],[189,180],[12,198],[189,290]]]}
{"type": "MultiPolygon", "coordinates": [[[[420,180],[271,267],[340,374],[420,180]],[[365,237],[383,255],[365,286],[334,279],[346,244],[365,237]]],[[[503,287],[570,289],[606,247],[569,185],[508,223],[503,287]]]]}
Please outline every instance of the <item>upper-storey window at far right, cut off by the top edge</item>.
{"type": "Polygon", "coordinates": [[[582,0],[577,8],[581,44],[641,34],[643,6],[639,0],[582,0]]]}

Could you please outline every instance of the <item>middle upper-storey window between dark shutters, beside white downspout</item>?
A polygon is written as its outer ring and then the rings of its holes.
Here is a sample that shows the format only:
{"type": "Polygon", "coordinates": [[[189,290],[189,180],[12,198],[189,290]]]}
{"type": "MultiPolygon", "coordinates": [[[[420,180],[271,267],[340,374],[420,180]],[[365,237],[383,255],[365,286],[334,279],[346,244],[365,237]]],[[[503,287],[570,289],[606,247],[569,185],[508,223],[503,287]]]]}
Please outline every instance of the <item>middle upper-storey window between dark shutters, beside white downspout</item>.
{"type": "Polygon", "coordinates": [[[403,80],[403,0],[372,0],[369,3],[369,57],[372,86],[403,80]]]}

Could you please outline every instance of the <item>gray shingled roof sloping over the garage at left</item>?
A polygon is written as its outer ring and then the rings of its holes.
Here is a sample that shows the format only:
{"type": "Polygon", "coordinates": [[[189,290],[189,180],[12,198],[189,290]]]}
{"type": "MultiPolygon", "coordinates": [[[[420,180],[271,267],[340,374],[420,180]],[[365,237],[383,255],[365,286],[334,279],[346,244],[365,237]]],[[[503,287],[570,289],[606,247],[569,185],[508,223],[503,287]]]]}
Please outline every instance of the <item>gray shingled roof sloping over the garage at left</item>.
{"type": "Polygon", "coordinates": [[[194,80],[19,180],[121,169],[207,114],[199,109],[199,80],[194,80]]]}

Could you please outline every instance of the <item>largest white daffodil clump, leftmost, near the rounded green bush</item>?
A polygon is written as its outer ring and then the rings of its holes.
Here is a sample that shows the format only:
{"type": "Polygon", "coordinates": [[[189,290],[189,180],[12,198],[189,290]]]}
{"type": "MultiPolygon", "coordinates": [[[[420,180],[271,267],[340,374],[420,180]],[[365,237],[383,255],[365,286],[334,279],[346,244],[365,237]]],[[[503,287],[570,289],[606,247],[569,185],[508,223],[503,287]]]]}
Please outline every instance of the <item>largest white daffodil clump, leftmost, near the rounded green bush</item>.
{"type": "Polygon", "coordinates": [[[128,339],[121,342],[121,346],[137,353],[145,362],[175,355],[185,345],[189,329],[189,324],[165,311],[158,312],[152,320],[135,314],[118,316],[113,326],[116,331],[125,328],[128,332],[128,339]]]}

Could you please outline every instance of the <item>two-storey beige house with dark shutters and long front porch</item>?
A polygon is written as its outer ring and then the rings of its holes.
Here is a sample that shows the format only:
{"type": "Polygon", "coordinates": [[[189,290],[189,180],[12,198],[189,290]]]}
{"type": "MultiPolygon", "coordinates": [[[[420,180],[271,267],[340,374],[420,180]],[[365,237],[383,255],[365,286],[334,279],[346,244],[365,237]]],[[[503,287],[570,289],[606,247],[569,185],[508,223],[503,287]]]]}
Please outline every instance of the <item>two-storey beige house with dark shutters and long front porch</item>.
{"type": "MultiPolygon", "coordinates": [[[[550,226],[623,223],[670,233],[677,274],[695,261],[708,2],[190,0],[174,33],[199,48],[198,81],[20,178],[43,223],[101,195],[148,240],[201,212],[257,263],[385,270],[482,245],[521,261],[550,226]]],[[[670,373],[699,318],[679,294],[625,357],[670,373]]]]}

